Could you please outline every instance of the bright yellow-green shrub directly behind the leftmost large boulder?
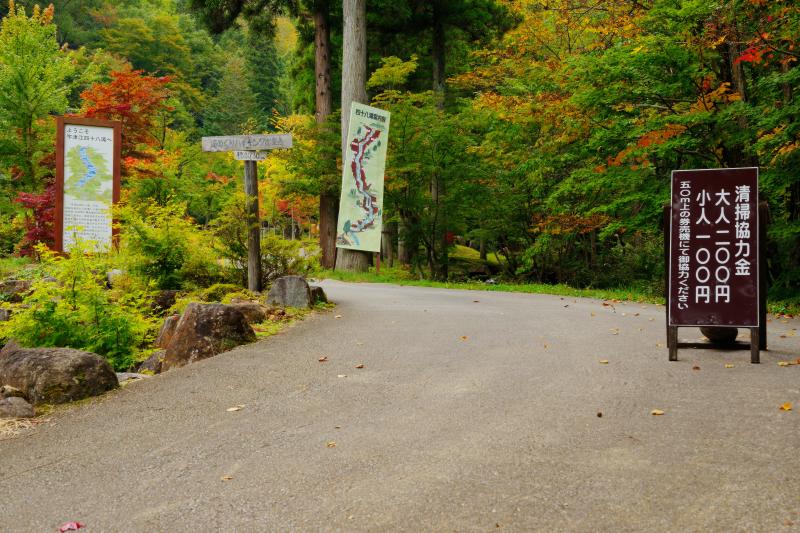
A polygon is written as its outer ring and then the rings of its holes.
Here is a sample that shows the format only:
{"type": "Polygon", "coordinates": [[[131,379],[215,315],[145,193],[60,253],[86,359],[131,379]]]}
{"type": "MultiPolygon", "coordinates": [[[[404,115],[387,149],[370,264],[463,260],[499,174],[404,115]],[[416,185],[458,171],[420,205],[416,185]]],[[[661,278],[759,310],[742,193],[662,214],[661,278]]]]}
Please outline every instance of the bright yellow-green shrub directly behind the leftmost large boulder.
{"type": "Polygon", "coordinates": [[[56,279],[34,282],[24,306],[9,322],[0,324],[0,337],[24,346],[60,346],[94,352],[115,370],[128,369],[135,354],[152,340],[154,324],[141,310],[143,291],[105,289],[109,259],[84,253],[78,243],[69,257],[59,257],[41,247],[47,275],[56,279]]]}

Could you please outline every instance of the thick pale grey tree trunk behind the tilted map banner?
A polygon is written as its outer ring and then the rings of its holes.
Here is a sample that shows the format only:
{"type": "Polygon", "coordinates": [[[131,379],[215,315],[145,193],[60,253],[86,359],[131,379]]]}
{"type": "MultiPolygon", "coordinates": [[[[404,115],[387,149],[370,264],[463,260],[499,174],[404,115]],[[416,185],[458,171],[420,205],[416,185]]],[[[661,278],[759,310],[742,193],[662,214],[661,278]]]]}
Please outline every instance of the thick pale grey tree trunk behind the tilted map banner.
{"type": "MultiPolygon", "coordinates": [[[[367,6],[366,0],[343,0],[342,45],[342,162],[347,160],[347,129],[353,102],[367,103],[367,6]]],[[[370,254],[340,248],[336,270],[366,272],[370,254]]]]}

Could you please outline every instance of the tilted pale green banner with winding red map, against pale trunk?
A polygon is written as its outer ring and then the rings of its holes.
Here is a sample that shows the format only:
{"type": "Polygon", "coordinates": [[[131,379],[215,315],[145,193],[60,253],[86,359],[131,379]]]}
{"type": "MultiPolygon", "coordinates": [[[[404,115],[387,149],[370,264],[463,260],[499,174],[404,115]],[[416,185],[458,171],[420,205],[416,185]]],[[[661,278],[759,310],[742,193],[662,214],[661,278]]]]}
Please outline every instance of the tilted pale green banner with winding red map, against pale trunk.
{"type": "Polygon", "coordinates": [[[342,165],[337,248],[379,252],[389,112],[353,102],[342,165]]]}

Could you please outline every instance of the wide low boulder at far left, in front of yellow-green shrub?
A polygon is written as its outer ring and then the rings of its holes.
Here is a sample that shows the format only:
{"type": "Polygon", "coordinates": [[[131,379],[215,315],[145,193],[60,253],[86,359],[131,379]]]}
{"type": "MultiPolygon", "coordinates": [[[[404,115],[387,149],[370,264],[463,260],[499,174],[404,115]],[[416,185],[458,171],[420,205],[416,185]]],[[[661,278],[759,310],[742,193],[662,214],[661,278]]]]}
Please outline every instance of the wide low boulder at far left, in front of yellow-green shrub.
{"type": "Polygon", "coordinates": [[[14,342],[0,351],[0,383],[21,390],[34,405],[81,400],[119,386],[111,365],[97,354],[14,342]]]}

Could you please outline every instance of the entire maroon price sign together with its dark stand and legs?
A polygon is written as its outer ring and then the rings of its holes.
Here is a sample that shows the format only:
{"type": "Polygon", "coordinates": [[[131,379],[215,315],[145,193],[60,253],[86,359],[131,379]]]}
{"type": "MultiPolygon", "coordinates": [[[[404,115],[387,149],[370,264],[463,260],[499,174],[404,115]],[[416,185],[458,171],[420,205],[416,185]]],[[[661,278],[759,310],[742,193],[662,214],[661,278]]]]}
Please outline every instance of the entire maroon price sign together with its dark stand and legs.
{"type": "Polygon", "coordinates": [[[758,169],[676,171],[672,185],[672,203],[663,208],[669,360],[678,360],[679,348],[749,348],[751,363],[759,363],[759,351],[767,349],[764,251],[769,209],[766,202],[758,201],[758,169]],[[750,193],[746,201],[735,201],[744,198],[735,195],[739,187],[750,193]],[[713,212],[711,217],[705,207],[713,212]],[[726,207],[730,207],[727,214],[726,207]],[[682,218],[687,220],[681,222],[682,218]],[[727,224],[720,224],[723,220],[727,224]],[[737,257],[741,261],[738,267],[737,257]],[[678,341],[678,328],[706,326],[746,328],[750,342],[718,345],[678,341]]]}

